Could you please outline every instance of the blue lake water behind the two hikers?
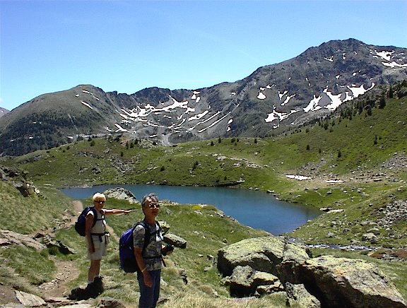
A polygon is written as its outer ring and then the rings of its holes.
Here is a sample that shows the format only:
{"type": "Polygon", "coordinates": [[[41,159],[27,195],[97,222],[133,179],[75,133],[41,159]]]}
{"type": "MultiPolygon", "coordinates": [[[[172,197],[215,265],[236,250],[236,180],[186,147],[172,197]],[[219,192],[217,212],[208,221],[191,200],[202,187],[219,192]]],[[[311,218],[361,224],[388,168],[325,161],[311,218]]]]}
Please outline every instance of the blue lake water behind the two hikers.
{"type": "MultiPolygon", "coordinates": [[[[247,189],[196,186],[160,186],[146,184],[115,184],[91,187],[65,188],[61,191],[74,199],[90,198],[95,192],[123,187],[131,191],[138,201],[154,192],[160,200],[187,204],[211,204],[239,223],[281,235],[304,225],[320,214],[317,209],[278,201],[271,194],[247,189]]],[[[108,208],[107,203],[107,208],[108,208]]]]}

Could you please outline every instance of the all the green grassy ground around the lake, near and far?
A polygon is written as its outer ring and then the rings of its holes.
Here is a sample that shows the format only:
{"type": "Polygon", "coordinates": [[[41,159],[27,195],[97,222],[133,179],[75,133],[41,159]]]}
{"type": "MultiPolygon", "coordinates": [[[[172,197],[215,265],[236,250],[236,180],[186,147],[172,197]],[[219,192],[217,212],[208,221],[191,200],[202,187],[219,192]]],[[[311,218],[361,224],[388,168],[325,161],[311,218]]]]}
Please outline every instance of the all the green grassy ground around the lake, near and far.
{"type": "MultiPolygon", "coordinates": [[[[274,138],[217,138],[162,147],[146,140],[112,136],[0,158],[0,164],[26,170],[41,192],[23,197],[10,183],[0,182],[0,224],[3,229],[25,234],[56,225],[55,220],[61,219],[65,210],[72,211],[69,199],[57,191],[61,186],[150,183],[270,190],[285,201],[337,210],[322,212],[290,233],[303,242],[379,247],[372,255],[376,257],[399,254],[399,261],[386,261],[367,256],[369,251],[322,252],[377,262],[406,297],[407,268],[400,261],[406,257],[405,251],[396,249],[407,247],[407,96],[389,95],[389,91],[386,95],[384,108],[379,108],[381,97],[365,97],[329,119],[274,138]],[[298,181],[286,177],[288,174],[311,179],[298,181]],[[363,238],[372,232],[377,236],[374,242],[363,238]]],[[[128,207],[119,201],[110,201],[108,206],[128,207]]],[[[114,234],[120,235],[138,218],[140,213],[112,218],[108,223],[114,234]]],[[[222,218],[211,207],[165,203],[160,219],[167,220],[171,231],[189,243],[187,249],[177,249],[168,258],[163,274],[168,285],[163,287],[163,294],[172,298],[169,303],[180,300],[184,302],[178,307],[187,307],[186,302],[189,307],[235,307],[235,302],[229,302],[228,291],[219,285],[210,256],[216,256],[225,244],[263,232],[222,218]],[[187,285],[182,279],[185,276],[187,285]],[[214,297],[215,293],[220,297],[214,297]]],[[[77,251],[68,258],[78,264],[81,273],[73,288],[85,281],[88,263],[83,241],[72,229],[59,230],[57,238],[77,251]]],[[[112,236],[112,249],[102,267],[109,281],[105,294],[131,303],[136,292],[134,276],[119,272],[115,247],[117,238],[112,236]]],[[[34,254],[21,247],[0,249],[0,259],[8,261],[7,267],[0,268],[1,281],[29,290],[51,280],[56,271],[52,254],[54,251],[49,250],[34,254]],[[47,270],[29,266],[30,271],[25,272],[27,267],[21,266],[37,263],[48,264],[47,270]]],[[[58,254],[57,258],[67,259],[58,254]]],[[[274,300],[276,307],[285,304],[274,300]]],[[[259,300],[247,307],[264,307],[264,303],[262,306],[259,300]]]]}

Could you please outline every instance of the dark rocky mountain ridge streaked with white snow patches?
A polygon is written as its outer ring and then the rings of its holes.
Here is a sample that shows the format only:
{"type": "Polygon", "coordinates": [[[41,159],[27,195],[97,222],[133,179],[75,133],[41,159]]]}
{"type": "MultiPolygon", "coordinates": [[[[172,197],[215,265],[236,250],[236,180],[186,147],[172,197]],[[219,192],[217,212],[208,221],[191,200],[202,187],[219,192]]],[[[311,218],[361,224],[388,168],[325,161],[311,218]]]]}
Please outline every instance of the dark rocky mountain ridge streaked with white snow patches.
{"type": "Polygon", "coordinates": [[[334,40],[209,88],[93,85],[35,97],[0,119],[0,153],[21,155],[96,134],[129,134],[170,145],[219,136],[271,136],[330,114],[379,85],[407,78],[406,48],[334,40]]]}

